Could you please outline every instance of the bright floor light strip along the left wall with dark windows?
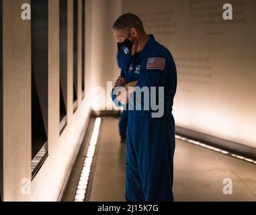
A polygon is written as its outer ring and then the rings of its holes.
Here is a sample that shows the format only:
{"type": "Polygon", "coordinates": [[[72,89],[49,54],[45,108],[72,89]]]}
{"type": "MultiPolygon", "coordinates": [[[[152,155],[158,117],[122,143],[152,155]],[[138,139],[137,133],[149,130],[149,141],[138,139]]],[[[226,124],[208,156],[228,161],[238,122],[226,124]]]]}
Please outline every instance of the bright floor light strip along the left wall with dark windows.
{"type": "Polygon", "coordinates": [[[95,155],[100,125],[101,125],[101,118],[96,118],[94,122],[93,132],[91,134],[91,140],[89,141],[89,146],[87,148],[85,161],[83,163],[83,168],[81,171],[79,183],[77,185],[75,202],[84,202],[85,200],[85,194],[87,190],[89,176],[91,173],[91,165],[93,163],[93,157],[95,155]]]}

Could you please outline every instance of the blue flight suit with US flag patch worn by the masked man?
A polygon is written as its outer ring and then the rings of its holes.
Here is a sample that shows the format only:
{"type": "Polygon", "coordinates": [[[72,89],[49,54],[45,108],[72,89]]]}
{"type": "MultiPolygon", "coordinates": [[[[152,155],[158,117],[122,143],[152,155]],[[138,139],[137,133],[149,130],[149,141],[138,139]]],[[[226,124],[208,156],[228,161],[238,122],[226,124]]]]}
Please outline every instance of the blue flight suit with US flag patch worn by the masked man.
{"type": "MultiPolygon", "coordinates": [[[[128,79],[138,87],[164,87],[164,114],[153,118],[154,110],[129,110],[126,141],[126,200],[173,201],[173,155],[175,120],[173,99],[177,89],[175,62],[167,48],[153,35],[142,52],[131,62],[128,79]],[[161,62],[157,62],[160,59],[161,62]]],[[[129,81],[129,82],[130,82],[129,81]]],[[[151,90],[150,90],[151,91],[151,90]]],[[[114,93],[113,93],[114,94],[114,93]]],[[[157,94],[158,95],[158,92],[157,94]]],[[[130,95],[131,97],[131,95],[130,95]]],[[[134,96],[135,97],[135,96],[134,96]]],[[[112,99],[117,105],[115,95],[112,99]]],[[[135,103],[136,99],[129,99],[135,103]]],[[[144,103],[141,99],[141,105],[144,103]]]]}

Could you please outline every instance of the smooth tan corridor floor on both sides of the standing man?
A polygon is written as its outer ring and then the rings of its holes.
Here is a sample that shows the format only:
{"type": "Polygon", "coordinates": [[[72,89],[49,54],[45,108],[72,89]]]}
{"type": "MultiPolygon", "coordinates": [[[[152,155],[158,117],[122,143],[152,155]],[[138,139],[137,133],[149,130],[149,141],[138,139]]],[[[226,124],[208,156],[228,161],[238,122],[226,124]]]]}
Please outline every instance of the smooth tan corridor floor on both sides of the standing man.
{"type": "MultiPolygon", "coordinates": [[[[125,150],[118,118],[103,118],[89,201],[124,201],[125,150]]],[[[175,201],[256,201],[256,165],[176,140],[175,201]],[[223,179],[232,179],[224,195],[223,179]]]]}

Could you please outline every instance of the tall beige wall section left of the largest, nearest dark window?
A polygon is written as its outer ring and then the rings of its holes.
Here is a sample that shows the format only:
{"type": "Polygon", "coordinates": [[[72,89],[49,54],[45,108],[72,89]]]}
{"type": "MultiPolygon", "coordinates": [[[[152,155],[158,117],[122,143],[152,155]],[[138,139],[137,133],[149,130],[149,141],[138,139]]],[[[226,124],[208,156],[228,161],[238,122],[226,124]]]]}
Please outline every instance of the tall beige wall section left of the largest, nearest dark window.
{"type": "Polygon", "coordinates": [[[22,179],[31,179],[31,40],[22,3],[3,0],[3,200],[29,200],[22,179]]]}

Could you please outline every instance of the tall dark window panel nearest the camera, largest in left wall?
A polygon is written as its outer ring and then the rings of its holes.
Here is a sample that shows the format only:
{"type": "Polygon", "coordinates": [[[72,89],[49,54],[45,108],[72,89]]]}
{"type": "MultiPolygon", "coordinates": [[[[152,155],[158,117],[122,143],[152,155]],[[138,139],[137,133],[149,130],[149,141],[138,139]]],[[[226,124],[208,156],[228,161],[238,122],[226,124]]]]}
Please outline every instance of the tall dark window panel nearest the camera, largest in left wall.
{"type": "Polygon", "coordinates": [[[48,155],[48,0],[32,0],[32,177],[48,155]]]}

